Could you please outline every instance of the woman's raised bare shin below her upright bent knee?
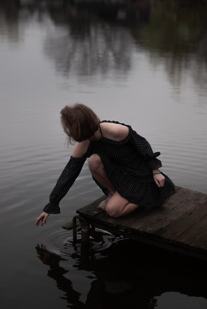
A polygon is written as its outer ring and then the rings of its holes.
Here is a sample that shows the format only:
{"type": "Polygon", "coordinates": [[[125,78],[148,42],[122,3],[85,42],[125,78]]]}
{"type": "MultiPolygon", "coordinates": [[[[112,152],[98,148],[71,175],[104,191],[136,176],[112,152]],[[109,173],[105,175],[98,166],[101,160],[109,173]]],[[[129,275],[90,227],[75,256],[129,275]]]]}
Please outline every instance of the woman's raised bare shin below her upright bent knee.
{"type": "Polygon", "coordinates": [[[103,163],[98,154],[92,154],[88,159],[88,167],[92,176],[105,188],[114,193],[116,189],[107,178],[103,163]]]}

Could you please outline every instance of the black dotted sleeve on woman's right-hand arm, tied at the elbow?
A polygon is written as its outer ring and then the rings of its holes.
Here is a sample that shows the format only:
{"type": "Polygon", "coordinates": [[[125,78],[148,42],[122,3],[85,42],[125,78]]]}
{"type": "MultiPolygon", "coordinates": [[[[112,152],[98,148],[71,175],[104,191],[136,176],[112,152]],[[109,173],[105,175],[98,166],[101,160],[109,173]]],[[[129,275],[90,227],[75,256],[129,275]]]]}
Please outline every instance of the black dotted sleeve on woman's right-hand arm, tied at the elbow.
{"type": "Polygon", "coordinates": [[[129,130],[133,146],[135,147],[138,154],[146,160],[149,168],[153,170],[155,168],[161,167],[162,162],[157,159],[157,156],[160,155],[160,152],[153,153],[150,144],[144,137],[137,134],[131,128],[129,128],[129,130]]]}

